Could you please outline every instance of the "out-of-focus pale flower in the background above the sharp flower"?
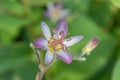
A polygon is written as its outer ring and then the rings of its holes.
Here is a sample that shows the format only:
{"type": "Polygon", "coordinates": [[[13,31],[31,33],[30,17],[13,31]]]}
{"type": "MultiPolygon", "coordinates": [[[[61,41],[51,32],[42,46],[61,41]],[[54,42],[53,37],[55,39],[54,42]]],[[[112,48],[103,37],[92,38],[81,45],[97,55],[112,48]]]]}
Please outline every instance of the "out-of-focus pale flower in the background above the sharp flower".
{"type": "Polygon", "coordinates": [[[64,19],[70,12],[69,9],[63,9],[63,5],[60,3],[54,5],[49,2],[47,9],[48,11],[45,13],[46,17],[49,17],[52,22],[64,19]]]}

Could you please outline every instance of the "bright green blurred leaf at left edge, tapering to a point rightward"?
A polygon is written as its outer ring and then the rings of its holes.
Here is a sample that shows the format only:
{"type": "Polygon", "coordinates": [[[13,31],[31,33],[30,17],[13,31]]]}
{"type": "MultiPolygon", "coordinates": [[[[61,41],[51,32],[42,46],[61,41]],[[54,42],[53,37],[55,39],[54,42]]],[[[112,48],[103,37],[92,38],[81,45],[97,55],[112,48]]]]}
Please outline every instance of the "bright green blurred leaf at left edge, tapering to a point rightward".
{"type": "Polygon", "coordinates": [[[25,18],[16,18],[8,15],[0,15],[0,41],[9,43],[14,39],[29,20],[25,18]],[[6,37],[7,36],[7,37],[6,37]]]}

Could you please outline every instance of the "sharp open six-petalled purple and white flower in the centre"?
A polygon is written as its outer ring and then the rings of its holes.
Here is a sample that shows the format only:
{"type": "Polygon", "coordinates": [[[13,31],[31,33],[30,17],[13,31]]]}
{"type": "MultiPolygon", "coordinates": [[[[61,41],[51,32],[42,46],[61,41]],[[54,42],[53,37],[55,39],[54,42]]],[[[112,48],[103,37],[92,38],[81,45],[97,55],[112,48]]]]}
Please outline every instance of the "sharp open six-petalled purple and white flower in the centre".
{"type": "Polygon", "coordinates": [[[74,45],[83,39],[83,36],[75,36],[64,39],[67,35],[68,27],[65,21],[61,21],[54,30],[53,36],[49,27],[45,22],[41,22],[42,31],[45,38],[39,38],[34,41],[34,45],[43,50],[47,50],[45,55],[45,64],[50,64],[55,56],[60,60],[70,64],[72,62],[72,55],[67,50],[67,47],[74,45]]]}

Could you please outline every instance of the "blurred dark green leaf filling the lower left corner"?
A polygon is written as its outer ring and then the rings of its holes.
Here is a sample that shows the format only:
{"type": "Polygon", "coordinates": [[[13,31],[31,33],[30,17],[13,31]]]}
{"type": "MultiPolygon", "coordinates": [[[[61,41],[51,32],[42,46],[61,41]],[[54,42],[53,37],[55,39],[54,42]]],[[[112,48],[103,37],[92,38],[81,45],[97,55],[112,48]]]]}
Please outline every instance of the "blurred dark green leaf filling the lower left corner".
{"type": "MultiPolygon", "coordinates": [[[[14,44],[0,48],[0,76],[7,75],[11,71],[13,77],[5,80],[34,80],[37,73],[37,65],[31,60],[29,46],[14,44]],[[17,76],[15,75],[17,74],[17,76]]],[[[1,78],[0,78],[1,79],[1,78]]]]}

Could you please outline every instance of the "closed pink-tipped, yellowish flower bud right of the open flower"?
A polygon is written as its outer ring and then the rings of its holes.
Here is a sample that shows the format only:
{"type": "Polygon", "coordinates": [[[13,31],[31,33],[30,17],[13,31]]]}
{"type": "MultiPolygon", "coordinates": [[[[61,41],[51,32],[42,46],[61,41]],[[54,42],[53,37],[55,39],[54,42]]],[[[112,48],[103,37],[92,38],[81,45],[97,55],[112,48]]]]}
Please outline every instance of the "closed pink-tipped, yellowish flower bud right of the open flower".
{"type": "Polygon", "coordinates": [[[82,52],[89,55],[90,52],[95,49],[95,47],[98,45],[99,39],[98,38],[93,38],[91,39],[87,45],[83,48],[82,52]]]}

